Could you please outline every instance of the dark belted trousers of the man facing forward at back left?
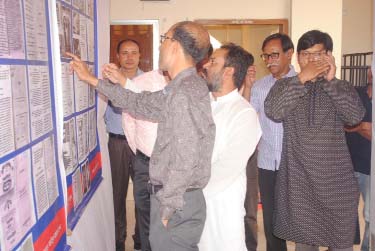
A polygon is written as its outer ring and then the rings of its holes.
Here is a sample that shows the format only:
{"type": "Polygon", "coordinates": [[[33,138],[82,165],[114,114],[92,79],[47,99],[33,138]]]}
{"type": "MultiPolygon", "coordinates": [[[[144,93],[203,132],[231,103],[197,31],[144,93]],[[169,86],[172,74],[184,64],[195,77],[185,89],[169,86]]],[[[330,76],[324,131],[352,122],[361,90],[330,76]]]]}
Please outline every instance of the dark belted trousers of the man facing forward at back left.
{"type": "MultiPolygon", "coordinates": [[[[113,206],[115,211],[115,237],[118,250],[125,249],[126,239],[126,195],[128,193],[129,176],[133,175],[132,162],[134,154],[126,139],[109,137],[109,160],[111,163],[113,206]]],[[[140,248],[139,230],[135,224],[133,236],[134,246],[140,248]],[[138,247],[137,247],[138,245],[138,247]]]]}

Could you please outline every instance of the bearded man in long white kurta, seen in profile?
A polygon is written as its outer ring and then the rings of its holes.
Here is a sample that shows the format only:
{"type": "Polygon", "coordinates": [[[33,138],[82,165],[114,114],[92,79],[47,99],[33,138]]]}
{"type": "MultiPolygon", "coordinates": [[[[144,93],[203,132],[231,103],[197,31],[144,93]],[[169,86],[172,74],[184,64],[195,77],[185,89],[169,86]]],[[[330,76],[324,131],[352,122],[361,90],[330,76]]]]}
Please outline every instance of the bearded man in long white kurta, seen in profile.
{"type": "Polygon", "coordinates": [[[207,218],[201,251],[246,251],[246,164],[261,137],[256,111],[238,92],[253,56],[223,45],[204,65],[216,124],[211,178],[203,192],[207,218]]]}

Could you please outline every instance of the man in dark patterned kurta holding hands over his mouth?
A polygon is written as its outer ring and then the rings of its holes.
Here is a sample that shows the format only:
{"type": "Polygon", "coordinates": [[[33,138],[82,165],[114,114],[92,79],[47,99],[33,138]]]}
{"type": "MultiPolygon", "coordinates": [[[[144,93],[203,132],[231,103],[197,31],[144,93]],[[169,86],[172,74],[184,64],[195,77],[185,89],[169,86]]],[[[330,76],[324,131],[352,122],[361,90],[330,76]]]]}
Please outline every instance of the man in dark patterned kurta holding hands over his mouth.
{"type": "Polygon", "coordinates": [[[274,234],[296,242],[296,251],[353,250],[359,194],[344,126],[360,123],[365,110],[355,89],[335,78],[332,49],[327,33],[303,34],[301,72],[276,82],[264,103],[284,127],[274,234]]]}

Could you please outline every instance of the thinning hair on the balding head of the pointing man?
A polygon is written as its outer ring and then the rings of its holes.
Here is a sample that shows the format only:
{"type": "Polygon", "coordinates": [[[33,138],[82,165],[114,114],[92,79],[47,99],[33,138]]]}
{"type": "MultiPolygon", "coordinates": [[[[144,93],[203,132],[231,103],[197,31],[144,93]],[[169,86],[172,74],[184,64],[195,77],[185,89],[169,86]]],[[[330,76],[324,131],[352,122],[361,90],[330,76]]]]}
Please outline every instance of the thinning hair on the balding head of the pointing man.
{"type": "Polygon", "coordinates": [[[191,21],[183,21],[177,23],[173,27],[172,36],[173,39],[177,40],[181,44],[184,53],[192,57],[195,64],[200,62],[207,55],[210,46],[209,40],[203,41],[199,39],[198,35],[200,34],[195,34],[197,30],[201,33],[203,31],[207,33],[207,31],[201,27],[201,25],[191,21]],[[195,26],[194,29],[191,28],[192,25],[195,26]]]}

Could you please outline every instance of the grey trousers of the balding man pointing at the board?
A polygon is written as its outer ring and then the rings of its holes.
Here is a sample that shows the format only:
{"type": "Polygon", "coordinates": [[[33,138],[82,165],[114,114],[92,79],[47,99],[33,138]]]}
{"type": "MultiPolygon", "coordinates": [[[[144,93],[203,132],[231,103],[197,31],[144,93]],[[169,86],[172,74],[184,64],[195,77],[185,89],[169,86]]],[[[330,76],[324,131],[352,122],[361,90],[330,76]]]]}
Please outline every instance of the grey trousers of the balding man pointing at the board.
{"type": "Polygon", "coordinates": [[[160,203],[151,195],[150,243],[153,251],[198,251],[206,220],[206,202],[202,189],[184,194],[184,206],[176,211],[165,227],[160,203]]]}

